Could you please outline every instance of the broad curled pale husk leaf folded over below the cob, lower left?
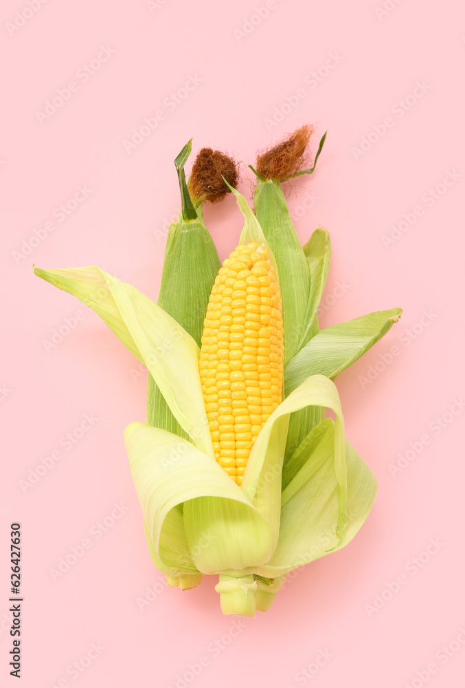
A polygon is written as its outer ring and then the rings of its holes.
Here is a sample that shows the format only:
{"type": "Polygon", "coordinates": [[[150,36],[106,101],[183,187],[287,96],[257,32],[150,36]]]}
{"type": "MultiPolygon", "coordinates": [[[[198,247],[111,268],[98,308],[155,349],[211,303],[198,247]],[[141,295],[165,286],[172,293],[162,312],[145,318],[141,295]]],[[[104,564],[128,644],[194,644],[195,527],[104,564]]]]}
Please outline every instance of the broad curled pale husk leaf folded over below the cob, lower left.
{"type": "Polygon", "coordinates": [[[129,425],[125,440],[144,520],[164,566],[216,573],[268,561],[271,528],[214,458],[144,423],[129,425]]]}

